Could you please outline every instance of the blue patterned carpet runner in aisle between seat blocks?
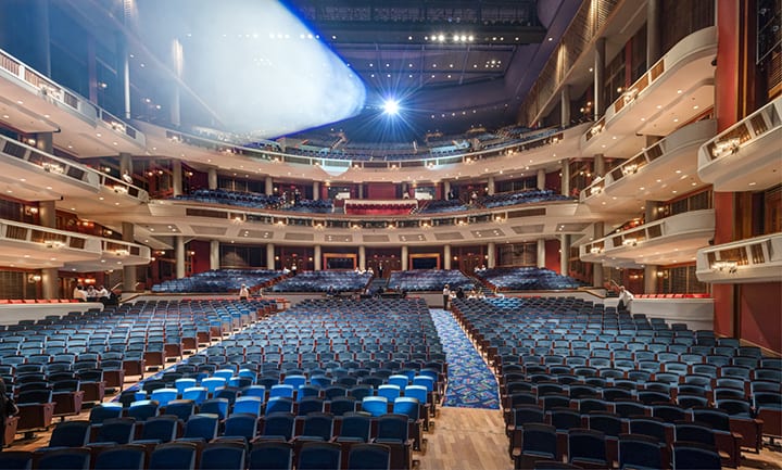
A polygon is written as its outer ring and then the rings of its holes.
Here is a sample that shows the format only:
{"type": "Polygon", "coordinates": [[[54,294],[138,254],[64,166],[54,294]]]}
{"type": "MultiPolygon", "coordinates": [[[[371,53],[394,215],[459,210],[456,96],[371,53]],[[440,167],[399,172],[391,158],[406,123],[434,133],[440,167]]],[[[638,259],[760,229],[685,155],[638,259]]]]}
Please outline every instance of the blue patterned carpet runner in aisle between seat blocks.
{"type": "Polygon", "coordinates": [[[445,406],[500,408],[497,383],[480,354],[449,312],[431,308],[449,361],[445,406]]]}

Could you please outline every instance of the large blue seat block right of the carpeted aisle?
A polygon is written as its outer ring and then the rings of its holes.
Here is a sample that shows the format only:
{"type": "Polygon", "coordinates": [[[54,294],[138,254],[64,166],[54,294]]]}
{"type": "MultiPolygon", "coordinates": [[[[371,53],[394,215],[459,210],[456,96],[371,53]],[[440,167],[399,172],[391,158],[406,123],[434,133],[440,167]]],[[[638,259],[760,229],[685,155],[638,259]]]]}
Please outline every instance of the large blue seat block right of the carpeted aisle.
{"type": "Polygon", "coordinates": [[[667,468],[682,441],[716,446],[735,468],[742,449],[782,434],[782,360],[735,338],[573,297],[456,300],[453,310],[497,376],[515,468],[541,455],[667,468]],[[652,445],[622,453],[632,440],[652,445]]]}

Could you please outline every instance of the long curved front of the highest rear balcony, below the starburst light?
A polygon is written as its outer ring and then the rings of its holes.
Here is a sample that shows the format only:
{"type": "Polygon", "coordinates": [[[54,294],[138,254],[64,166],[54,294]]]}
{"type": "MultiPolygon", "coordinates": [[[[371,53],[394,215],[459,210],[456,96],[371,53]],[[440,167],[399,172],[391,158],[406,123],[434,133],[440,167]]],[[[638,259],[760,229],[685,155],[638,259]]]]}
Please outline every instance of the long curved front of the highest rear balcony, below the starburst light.
{"type": "Polygon", "coordinates": [[[147,136],[149,154],[187,160],[206,167],[219,165],[225,172],[327,182],[407,182],[502,175],[553,166],[564,157],[578,155],[578,136],[589,124],[520,143],[449,155],[424,154],[402,161],[306,156],[269,145],[261,149],[236,145],[147,123],[138,123],[138,126],[147,136]]]}

